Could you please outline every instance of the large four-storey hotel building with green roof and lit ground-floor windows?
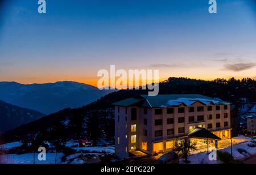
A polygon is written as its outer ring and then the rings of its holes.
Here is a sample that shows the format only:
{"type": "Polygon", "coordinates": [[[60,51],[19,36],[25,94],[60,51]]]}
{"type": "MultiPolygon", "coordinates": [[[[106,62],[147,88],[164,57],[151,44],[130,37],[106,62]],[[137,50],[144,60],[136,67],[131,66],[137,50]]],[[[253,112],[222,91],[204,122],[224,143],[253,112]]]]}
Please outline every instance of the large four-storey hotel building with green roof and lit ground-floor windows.
{"type": "MultiPolygon", "coordinates": [[[[137,96],[115,105],[115,153],[120,158],[140,150],[168,152],[196,127],[221,139],[231,137],[230,104],[202,95],[137,96]]],[[[205,146],[204,139],[194,139],[205,146]]]]}

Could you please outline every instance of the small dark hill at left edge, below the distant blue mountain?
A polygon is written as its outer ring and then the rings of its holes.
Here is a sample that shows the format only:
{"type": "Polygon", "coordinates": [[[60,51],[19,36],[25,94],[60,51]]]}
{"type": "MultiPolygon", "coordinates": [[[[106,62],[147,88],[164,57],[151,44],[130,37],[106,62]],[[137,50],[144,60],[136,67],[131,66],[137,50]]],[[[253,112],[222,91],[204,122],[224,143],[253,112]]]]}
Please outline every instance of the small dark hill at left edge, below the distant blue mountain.
{"type": "Polygon", "coordinates": [[[0,100],[0,133],[35,121],[43,116],[45,114],[35,110],[20,108],[0,100]]]}

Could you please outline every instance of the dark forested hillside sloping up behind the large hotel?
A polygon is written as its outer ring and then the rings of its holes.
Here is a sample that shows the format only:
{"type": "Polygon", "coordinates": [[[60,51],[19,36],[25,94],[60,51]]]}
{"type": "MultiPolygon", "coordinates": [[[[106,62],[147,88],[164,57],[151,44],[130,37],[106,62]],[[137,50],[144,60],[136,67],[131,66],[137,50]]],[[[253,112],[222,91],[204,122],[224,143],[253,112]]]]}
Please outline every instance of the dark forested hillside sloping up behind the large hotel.
{"type": "MultiPolygon", "coordinates": [[[[252,79],[229,80],[216,79],[212,81],[188,78],[169,78],[159,83],[159,94],[168,93],[198,93],[216,97],[239,105],[246,97],[256,101],[256,81],[252,79]]],[[[104,136],[114,137],[113,103],[139,94],[147,94],[147,90],[119,90],[109,93],[101,99],[80,108],[67,108],[42,117],[1,135],[1,140],[65,140],[84,138],[96,140],[104,136]],[[28,135],[30,138],[28,138],[28,135]],[[41,137],[41,138],[40,138],[41,137]]]]}

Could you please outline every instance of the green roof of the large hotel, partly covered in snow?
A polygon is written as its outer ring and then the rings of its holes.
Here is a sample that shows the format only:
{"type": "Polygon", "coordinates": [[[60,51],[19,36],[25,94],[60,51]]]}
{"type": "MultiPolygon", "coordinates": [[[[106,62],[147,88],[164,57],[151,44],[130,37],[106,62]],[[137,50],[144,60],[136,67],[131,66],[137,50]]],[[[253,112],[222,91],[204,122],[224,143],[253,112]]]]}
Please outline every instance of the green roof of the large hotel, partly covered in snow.
{"type": "Polygon", "coordinates": [[[166,94],[157,96],[139,95],[126,100],[118,101],[113,105],[117,106],[140,106],[144,108],[163,108],[171,106],[187,105],[190,106],[196,102],[204,105],[209,104],[229,104],[220,99],[214,99],[199,94],[166,94]]]}

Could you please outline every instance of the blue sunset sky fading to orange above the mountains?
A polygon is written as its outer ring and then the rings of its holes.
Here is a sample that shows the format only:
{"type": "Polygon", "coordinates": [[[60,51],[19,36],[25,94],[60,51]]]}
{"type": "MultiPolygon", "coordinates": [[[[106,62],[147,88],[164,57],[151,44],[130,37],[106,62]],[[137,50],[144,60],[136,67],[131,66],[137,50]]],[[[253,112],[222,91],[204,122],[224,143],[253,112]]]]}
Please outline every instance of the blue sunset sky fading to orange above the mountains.
{"type": "Polygon", "coordinates": [[[256,77],[256,2],[37,0],[0,3],[0,81],[72,80],[98,70],[158,69],[204,80],[256,77]]]}

